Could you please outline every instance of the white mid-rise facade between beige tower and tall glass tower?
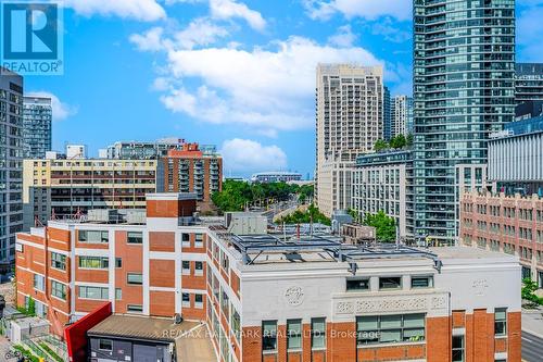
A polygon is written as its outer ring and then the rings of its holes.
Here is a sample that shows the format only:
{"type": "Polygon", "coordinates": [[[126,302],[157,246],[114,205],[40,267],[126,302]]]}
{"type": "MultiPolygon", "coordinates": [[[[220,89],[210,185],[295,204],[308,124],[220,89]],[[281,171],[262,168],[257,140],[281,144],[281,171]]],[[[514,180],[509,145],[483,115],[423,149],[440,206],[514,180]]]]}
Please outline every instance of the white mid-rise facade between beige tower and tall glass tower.
{"type": "Polygon", "coordinates": [[[353,176],[353,204],[361,219],[383,211],[394,217],[397,236],[413,239],[411,227],[413,152],[395,151],[361,155],[353,176]],[[409,197],[408,197],[409,194],[409,197]]]}

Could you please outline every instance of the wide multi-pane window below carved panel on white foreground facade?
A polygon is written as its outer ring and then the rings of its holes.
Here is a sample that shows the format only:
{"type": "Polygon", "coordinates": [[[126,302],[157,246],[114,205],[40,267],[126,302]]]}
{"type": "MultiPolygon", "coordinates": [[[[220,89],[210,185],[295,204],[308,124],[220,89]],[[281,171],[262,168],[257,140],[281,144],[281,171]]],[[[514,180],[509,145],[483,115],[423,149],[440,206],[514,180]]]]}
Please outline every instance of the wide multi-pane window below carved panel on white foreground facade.
{"type": "Polygon", "coordinates": [[[372,315],[356,319],[358,345],[425,340],[425,314],[372,315]]]}

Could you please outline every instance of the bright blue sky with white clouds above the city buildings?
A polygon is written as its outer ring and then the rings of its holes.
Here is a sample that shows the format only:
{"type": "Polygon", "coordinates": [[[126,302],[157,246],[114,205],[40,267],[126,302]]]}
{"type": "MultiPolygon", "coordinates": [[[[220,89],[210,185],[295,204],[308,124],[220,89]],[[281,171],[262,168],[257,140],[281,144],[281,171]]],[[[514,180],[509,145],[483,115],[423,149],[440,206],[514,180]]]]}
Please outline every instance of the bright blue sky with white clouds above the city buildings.
{"type": "MultiPolygon", "coordinates": [[[[412,0],[64,0],[53,149],[182,138],[216,145],[226,176],[313,175],[315,67],[381,64],[412,93],[412,0]]],[[[517,61],[543,62],[543,0],[517,0],[517,61]]]]}

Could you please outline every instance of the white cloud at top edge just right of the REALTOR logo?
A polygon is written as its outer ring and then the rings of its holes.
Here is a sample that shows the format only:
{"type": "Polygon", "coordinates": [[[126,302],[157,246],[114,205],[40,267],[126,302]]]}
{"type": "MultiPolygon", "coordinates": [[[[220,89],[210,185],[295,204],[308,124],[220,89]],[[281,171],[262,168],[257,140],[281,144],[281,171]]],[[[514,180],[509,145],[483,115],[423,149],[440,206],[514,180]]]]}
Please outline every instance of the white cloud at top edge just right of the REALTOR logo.
{"type": "Polygon", "coordinates": [[[156,0],[64,0],[84,16],[94,14],[154,22],[166,17],[166,12],[156,0]]]}

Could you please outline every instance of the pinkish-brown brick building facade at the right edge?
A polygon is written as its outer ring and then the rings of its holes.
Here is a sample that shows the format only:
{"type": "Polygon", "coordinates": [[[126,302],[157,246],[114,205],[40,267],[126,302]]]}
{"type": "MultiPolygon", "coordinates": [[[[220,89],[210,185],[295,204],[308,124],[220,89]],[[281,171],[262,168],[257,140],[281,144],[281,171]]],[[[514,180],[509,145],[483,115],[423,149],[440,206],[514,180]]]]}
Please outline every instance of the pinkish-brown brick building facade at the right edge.
{"type": "Polygon", "coordinates": [[[470,192],[460,210],[464,245],[519,257],[522,277],[543,288],[543,198],[470,192]]]}

